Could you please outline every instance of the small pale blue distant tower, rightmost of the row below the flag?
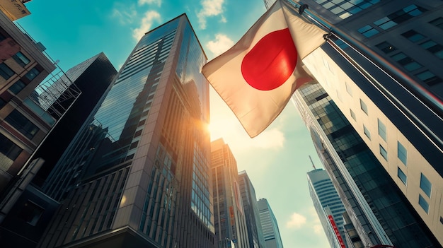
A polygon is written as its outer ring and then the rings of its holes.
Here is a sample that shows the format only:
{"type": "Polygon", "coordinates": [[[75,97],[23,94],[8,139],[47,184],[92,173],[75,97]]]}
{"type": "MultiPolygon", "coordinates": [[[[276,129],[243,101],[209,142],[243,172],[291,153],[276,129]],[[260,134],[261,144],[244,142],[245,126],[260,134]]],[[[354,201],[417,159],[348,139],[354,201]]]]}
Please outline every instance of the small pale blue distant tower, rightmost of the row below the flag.
{"type": "Polygon", "coordinates": [[[258,200],[258,211],[260,212],[260,222],[262,224],[266,248],[283,248],[277,218],[275,218],[269,203],[267,203],[267,199],[258,200]]]}

